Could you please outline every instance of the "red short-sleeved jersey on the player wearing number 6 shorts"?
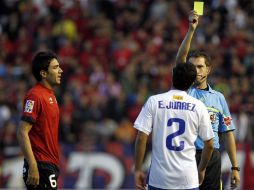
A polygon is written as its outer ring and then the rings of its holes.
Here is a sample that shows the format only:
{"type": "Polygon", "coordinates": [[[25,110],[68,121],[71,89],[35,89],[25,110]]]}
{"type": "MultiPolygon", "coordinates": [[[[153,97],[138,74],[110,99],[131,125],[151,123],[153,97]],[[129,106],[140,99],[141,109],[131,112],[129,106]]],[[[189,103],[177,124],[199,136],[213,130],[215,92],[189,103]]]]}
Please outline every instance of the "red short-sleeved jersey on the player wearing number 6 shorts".
{"type": "Polygon", "coordinates": [[[59,165],[59,107],[54,92],[36,84],[27,93],[21,120],[33,124],[29,131],[36,161],[59,165]]]}

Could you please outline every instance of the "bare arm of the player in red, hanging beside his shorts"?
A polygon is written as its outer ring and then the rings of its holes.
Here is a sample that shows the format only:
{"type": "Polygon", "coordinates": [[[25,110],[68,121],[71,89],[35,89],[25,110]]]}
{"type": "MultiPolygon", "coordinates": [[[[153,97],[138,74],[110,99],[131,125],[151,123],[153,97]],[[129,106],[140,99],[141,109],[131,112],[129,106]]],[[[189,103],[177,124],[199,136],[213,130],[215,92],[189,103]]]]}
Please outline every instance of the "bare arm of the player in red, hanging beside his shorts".
{"type": "Polygon", "coordinates": [[[28,178],[26,183],[28,185],[37,186],[39,185],[39,171],[37,167],[37,162],[35,160],[35,157],[32,151],[31,142],[28,136],[28,133],[31,130],[31,128],[32,128],[32,124],[25,121],[21,121],[17,131],[17,138],[18,138],[18,142],[21,147],[21,150],[29,165],[28,178]]]}

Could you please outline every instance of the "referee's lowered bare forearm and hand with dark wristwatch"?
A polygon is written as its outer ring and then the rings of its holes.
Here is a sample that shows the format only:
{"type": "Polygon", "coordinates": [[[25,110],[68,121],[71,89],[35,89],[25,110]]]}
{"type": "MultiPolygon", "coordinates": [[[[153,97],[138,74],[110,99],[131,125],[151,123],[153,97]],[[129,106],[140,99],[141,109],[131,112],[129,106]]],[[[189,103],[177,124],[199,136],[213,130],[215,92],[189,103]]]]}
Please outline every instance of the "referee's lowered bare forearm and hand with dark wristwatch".
{"type": "MultiPolygon", "coordinates": [[[[222,133],[222,135],[232,167],[239,167],[236,159],[236,143],[233,131],[222,133]]],[[[236,188],[237,186],[239,186],[239,184],[240,184],[239,171],[234,169],[232,170],[231,173],[231,187],[236,188]]]]}

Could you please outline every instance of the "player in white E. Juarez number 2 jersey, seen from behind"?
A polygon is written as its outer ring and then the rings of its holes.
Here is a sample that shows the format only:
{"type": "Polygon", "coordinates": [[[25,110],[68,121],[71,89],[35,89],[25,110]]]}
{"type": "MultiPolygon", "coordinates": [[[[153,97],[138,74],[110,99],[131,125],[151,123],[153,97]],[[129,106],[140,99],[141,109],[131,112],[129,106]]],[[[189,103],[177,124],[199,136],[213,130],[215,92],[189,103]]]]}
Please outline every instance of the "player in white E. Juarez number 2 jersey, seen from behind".
{"type": "Polygon", "coordinates": [[[151,96],[139,113],[134,127],[135,183],[145,189],[141,170],[148,136],[152,133],[152,161],[147,177],[148,189],[198,189],[213,151],[213,131],[205,105],[189,96],[197,72],[193,64],[179,64],[173,69],[170,91],[151,96]],[[194,142],[204,141],[199,165],[194,142]]]}

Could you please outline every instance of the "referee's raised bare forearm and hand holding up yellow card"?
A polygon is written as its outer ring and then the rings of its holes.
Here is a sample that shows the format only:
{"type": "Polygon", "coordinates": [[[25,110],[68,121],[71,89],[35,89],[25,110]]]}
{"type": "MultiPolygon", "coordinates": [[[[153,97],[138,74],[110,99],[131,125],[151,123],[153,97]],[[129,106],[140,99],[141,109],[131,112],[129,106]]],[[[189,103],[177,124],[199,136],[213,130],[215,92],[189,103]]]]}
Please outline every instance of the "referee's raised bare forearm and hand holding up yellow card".
{"type": "Polygon", "coordinates": [[[190,50],[191,40],[197,25],[198,25],[198,15],[196,14],[195,11],[191,11],[189,14],[189,29],[178,49],[178,52],[176,55],[176,64],[186,62],[186,59],[190,50]]]}

